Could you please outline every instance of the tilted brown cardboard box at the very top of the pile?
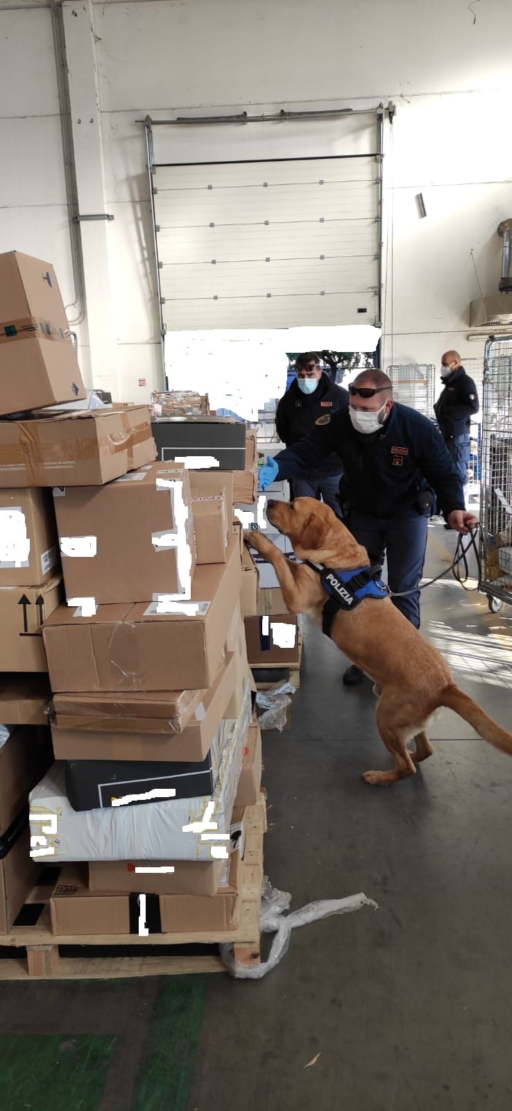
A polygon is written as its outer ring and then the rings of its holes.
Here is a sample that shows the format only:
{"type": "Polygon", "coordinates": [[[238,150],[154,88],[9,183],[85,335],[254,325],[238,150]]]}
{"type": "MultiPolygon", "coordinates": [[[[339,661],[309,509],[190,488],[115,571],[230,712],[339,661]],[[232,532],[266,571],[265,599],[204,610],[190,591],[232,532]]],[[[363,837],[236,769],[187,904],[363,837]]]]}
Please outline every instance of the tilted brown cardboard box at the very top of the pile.
{"type": "Polygon", "coordinates": [[[53,267],[0,254],[0,413],[86,397],[53,267]]]}

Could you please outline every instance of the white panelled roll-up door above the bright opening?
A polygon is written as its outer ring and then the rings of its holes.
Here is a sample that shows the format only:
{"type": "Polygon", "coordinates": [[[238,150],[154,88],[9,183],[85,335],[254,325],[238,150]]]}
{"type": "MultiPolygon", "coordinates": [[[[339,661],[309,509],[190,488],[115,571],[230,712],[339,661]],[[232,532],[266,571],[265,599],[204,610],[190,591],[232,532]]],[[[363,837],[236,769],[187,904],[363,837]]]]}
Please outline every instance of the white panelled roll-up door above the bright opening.
{"type": "Polygon", "coordinates": [[[168,331],[378,324],[381,159],[157,164],[168,331]]]}

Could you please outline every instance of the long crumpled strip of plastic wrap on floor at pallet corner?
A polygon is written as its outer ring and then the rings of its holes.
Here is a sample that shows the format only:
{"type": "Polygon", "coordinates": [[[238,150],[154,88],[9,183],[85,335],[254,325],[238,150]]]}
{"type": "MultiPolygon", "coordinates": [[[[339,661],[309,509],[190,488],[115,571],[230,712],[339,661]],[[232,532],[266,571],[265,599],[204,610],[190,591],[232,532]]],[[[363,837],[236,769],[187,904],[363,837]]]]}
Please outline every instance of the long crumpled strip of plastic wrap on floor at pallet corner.
{"type": "Polygon", "coordinates": [[[278,891],[272,888],[265,875],[261,900],[260,933],[274,934],[269,959],[261,964],[240,964],[234,960],[232,945],[220,945],[220,954],[230,975],[237,980],[261,980],[284,957],[290,944],[291,931],[298,925],[308,925],[310,922],[329,918],[331,914],[349,914],[351,911],[360,910],[361,907],[373,907],[374,910],[378,910],[377,902],[373,899],[367,899],[362,892],[349,895],[347,899],[323,899],[320,902],[308,903],[301,910],[294,910],[287,918],[283,918],[283,911],[289,910],[290,903],[291,894],[288,891],[278,891]]]}

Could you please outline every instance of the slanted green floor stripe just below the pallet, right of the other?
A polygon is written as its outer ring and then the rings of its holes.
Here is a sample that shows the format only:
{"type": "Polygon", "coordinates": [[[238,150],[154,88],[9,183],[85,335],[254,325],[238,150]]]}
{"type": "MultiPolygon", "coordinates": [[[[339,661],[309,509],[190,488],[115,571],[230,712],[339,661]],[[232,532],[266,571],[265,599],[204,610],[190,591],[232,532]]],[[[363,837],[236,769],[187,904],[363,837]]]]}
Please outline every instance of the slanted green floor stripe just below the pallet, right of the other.
{"type": "Polygon", "coordinates": [[[205,975],[162,981],[131,1111],[187,1111],[205,993],[205,975]]]}

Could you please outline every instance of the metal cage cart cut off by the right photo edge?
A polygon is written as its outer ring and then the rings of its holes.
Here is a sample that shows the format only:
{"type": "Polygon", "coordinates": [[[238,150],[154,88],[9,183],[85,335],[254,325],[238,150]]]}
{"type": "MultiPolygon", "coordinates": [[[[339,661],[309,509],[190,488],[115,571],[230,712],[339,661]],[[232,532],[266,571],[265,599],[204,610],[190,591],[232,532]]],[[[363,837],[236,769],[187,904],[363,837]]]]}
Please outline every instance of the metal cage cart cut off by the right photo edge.
{"type": "Polygon", "coordinates": [[[512,336],[485,343],[482,402],[482,591],[512,603],[512,336]]]}

